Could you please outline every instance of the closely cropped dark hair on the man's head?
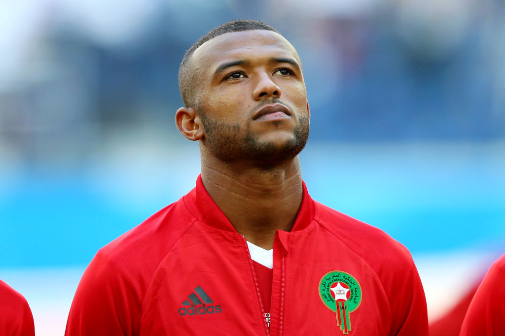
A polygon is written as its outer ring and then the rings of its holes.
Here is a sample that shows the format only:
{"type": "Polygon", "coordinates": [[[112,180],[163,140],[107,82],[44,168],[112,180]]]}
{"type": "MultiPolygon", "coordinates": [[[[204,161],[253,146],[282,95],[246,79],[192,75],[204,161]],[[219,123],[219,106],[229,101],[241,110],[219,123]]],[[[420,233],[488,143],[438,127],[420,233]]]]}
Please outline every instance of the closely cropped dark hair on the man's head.
{"type": "Polygon", "coordinates": [[[264,22],[256,20],[234,20],[230,22],[223,23],[219,27],[214,28],[203,37],[201,37],[196,43],[194,43],[191,48],[189,48],[184,54],[181,65],[179,67],[179,90],[181,91],[182,101],[186,107],[189,107],[193,102],[193,78],[191,71],[191,57],[194,51],[205,42],[223,35],[226,33],[236,32],[236,31],[246,31],[246,30],[270,30],[280,33],[272,26],[267,25],[264,22]]]}

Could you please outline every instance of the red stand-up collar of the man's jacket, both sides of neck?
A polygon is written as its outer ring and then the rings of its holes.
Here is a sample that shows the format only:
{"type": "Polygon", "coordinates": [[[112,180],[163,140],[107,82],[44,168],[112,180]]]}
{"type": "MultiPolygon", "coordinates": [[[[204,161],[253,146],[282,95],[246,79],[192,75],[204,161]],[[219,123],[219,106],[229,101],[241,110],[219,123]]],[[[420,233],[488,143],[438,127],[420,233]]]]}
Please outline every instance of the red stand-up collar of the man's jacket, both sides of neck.
{"type": "MultiPolygon", "coordinates": [[[[300,231],[307,228],[314,218],[314,201],[307,191],[305,182],[302,182],[302,187],[301,205],[291,231],[300,231]]],[[[198,220],[216,229],[236,232],[226,215],[205,189],[201,174],[196,180],[196,188],[184,197],[184,203],[198,220]]]]}

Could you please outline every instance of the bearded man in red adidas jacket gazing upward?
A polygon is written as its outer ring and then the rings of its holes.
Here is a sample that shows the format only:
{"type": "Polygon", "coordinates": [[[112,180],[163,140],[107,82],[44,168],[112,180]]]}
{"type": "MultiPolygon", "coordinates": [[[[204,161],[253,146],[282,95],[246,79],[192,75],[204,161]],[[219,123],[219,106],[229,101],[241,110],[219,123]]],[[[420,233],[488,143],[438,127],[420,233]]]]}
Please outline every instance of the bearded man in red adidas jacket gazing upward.
{"type": "Polygon", "coordinates": [[[309,103],[293,46],[232,21],[187,52],[176,125],[196,188],[100,249],[67,335],[426,335],[405,247],[311,199],[309,103]]]}

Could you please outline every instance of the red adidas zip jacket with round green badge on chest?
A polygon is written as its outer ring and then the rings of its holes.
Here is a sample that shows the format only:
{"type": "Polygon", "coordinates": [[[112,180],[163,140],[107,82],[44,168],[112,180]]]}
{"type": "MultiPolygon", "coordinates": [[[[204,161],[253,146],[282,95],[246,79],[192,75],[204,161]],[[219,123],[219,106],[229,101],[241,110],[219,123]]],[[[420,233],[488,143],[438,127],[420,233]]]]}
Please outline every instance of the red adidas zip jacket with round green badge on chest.
{"type": "Polygon", "coordinates": [[[66,335],[428,334],[409,251],[313,201],[305,184],[292,231],[276,233],[273,258],[269,329],[246,241],[199,177],[179,201],[98,251],[66,335]]]}

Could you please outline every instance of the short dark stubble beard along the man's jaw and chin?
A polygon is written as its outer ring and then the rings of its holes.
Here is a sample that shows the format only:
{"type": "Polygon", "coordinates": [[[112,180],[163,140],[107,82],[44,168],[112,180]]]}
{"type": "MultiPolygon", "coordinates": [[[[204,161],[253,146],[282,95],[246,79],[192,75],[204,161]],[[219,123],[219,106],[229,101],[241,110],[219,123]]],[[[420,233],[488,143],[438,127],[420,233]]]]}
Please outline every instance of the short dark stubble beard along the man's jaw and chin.
{"type": "Polygon", "coordinates": [[[261,167],[271,167],[293,159],[304,149],[309,138],[309,118],[303,115],[293,129],[293,137],[280,145],[261,142],[249,125],[242,135],[238,124],[219,122],[200,111],[206,132],[206,142],[214,155],[223,162],[250,162],[261,167]]]}

